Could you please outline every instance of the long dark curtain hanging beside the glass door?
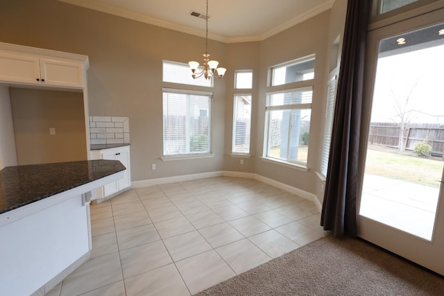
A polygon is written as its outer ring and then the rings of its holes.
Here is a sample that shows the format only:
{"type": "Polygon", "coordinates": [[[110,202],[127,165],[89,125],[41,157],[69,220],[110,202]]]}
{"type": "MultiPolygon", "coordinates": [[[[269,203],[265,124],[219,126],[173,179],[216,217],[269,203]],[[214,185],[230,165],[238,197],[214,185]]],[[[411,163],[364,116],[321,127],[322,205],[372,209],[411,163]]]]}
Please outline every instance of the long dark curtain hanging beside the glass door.
{"type": "Polygon", "coordinates": [[[357,235],[357,171],[370,0],[348,0],[321,225],[357,235]]]}

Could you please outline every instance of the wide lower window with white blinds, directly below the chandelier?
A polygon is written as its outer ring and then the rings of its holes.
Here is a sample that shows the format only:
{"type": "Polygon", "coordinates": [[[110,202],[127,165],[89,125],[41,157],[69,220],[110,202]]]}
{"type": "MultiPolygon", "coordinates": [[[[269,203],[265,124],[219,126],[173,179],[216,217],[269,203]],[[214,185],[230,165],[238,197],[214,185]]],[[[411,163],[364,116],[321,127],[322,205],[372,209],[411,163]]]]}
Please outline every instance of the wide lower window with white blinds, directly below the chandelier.
{"type": "Polygon", "coordinates": [[[212,152],[212,93],[163,90],[164,156],[212,152]]]}

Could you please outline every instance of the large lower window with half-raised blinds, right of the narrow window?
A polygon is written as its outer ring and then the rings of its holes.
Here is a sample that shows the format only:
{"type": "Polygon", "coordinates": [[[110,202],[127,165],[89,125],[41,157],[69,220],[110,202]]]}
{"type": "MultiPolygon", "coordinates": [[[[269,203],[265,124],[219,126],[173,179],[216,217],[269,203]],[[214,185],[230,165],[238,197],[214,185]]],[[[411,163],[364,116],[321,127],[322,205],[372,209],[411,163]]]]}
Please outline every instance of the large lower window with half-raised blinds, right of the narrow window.
{"type": "Polygon", "coordinates": [[[307,166],[313,87],[266,96],[265,156],[307,166]]]}

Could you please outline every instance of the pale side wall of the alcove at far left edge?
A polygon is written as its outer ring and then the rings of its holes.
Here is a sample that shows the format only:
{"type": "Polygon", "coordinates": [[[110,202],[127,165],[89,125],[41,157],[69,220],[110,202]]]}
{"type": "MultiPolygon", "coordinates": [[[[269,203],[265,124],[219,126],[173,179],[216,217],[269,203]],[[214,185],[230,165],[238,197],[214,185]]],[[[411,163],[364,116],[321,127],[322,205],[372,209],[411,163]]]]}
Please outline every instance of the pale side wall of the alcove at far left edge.
{"type": "Polygon", "coordinates": [[[9,88],[0,85],[0,170],[6,166],[17,166],[17,153],[9,88]]]}

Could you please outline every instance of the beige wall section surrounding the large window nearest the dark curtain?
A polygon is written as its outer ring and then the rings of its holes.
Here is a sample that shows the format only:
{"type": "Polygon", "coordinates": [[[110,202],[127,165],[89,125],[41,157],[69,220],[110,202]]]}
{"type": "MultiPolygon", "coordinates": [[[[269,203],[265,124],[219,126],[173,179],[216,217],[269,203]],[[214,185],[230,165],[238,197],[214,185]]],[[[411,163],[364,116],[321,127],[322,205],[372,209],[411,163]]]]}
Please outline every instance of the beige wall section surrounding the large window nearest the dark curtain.
{"type": "Polygon", "coordinates": [[[273,164],[258,157],[255,158],[255,169],[256,173],[259,175],[277,180],[284,184],[289,184],[309,193],[314,192],[316,178],[315,171],[318,170],[318,155],[321,151],[319,147],[321,143],[319,142],[319,139],[316,139],[313,135],[319,134],[323,128],[321,118],[323,116],[323,105],[325,104],[324,85],[326,81],[324,71],[327,60],[327,28],[329,23],[330,11],[323,12],[278,35],[274,35],[273,37],[264,40],[260,49],[261,57],[259,71],[262,75],[259,77],[259,114],[257,115],[257,140],[255,142],[258,155],[262,153],[264,142],[264,109],[266,92],[271,90],[266,87],[266,71],[268,67],[302,58],[313,53],[316,54],[314,80],[296,82],[291,85],[293,87],[313,86],[313,103],[311,104],[310,122],[311,137],[309,141],[309,155],[307,162],[309,171],[302,171],[298,168],[273,164]]]}

